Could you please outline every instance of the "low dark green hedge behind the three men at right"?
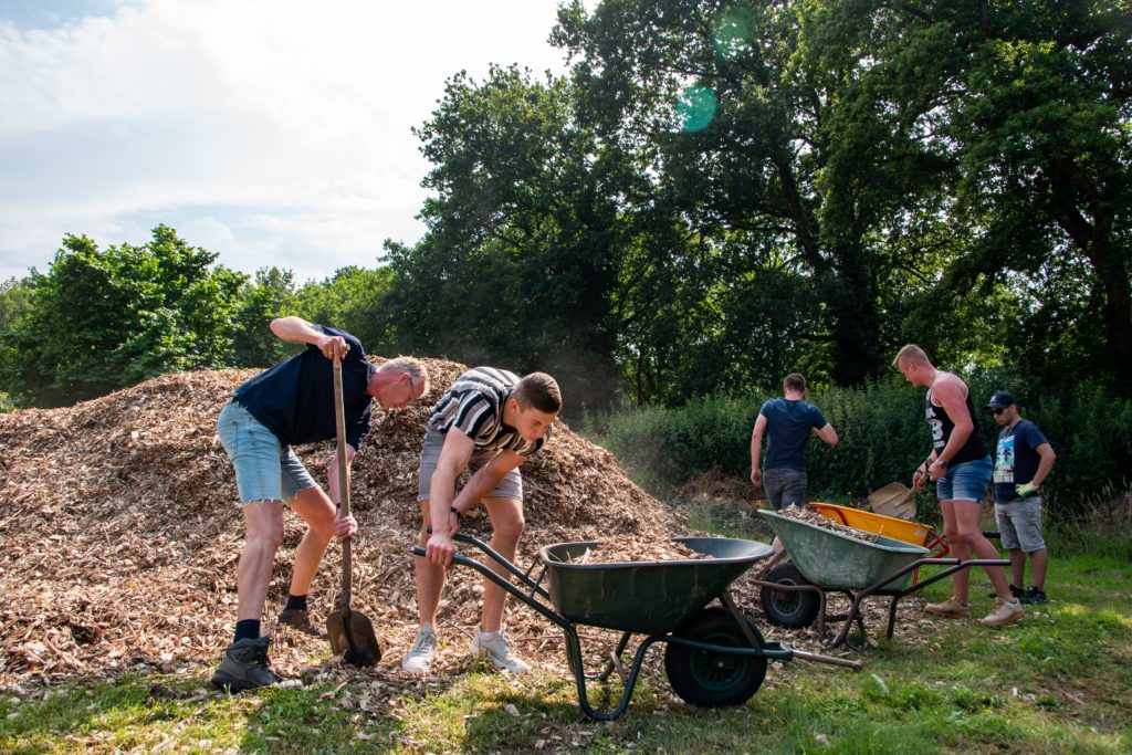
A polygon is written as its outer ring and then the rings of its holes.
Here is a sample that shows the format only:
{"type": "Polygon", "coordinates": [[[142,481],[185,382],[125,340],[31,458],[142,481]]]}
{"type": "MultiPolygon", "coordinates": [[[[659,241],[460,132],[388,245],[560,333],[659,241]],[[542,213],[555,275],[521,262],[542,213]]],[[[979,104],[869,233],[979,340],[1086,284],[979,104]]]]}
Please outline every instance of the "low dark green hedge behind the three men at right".
{"type": "MultiPolygon", "coordinates": [[[[1047,506],[1062,509],[1081,497],[1100,496],[1132,477],[1132,403],[1099,388],[1065,395],[1027,385],[1006,372],[984,371],[968,385],[981,407],[990,394],[1010,389],[1022,414],[1043,430],[1057,453],[1053,474],[1043,488],[1047,506]]],[[[751,432],[762,403],[775,394],[740,398],[697,397],[679,407],[646,406],[612,412],[590,427],[631,477],[650,491],[664,495],[693,475],[719,467],[751,475],[751,432]]],[[[808,495],[812,498],[861,500],[889,482],[911,484],[911,472],[931,451],[924,421],[925,393],[899,377],[873,380],[859,388],[812,391],[816,404],[840,437],[837,446],[813,440],[807,447],[808,495]]],[[[979,412],[977,431],[993,449],[998,426],[979,412]]]]}

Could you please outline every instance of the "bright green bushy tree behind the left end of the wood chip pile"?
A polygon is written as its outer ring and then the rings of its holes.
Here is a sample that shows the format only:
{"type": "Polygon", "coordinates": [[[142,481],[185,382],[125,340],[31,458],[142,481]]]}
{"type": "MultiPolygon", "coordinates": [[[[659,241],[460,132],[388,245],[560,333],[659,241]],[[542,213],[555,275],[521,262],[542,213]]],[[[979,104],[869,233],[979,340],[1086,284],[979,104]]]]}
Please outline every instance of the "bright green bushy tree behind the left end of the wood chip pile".
{"type": "Polygon", "coordinates": [[[245,276],[212,268],[164,225],[142,247],[68,235],[5,336],[5,377],[37,405],[97,396],[155,375],[225,367],[245,276]]]}

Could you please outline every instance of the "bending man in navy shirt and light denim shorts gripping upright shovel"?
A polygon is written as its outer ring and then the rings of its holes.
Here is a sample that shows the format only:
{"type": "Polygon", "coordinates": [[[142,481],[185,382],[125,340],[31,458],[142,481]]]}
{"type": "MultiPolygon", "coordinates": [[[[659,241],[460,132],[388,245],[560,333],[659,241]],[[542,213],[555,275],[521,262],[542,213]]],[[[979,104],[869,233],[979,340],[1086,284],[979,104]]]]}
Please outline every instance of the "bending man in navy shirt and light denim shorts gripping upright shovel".
{"type": "Polygon", "coordinates": [[[342,483],[334,463],[336,454],[327,465],[327,496],[291,447],[337,435],[334,358],[342,360],[348,465],[369,431],[372,400],[385,409],[396,409],[428,391],[428,372],[419,361],[398,357],[375,367],[358,338],[344,331],[298,317],[275,319],[271,329],[283,341],[307,349],[237,388],[216,423],[216,434],[235,467],[247,530],[237,576],[235,637],[213,675],[213,684],[231,690],[280,680],[268,668],[268,642],[259,636],[259,623],[275,551],[283,542],[283,504],[290,504],[308,529],[295,550],[281,624],[320,634],[307,614],[310,583],[331,538],[341,542],[358,532],[353,516],[335,512],[342,483]]]}

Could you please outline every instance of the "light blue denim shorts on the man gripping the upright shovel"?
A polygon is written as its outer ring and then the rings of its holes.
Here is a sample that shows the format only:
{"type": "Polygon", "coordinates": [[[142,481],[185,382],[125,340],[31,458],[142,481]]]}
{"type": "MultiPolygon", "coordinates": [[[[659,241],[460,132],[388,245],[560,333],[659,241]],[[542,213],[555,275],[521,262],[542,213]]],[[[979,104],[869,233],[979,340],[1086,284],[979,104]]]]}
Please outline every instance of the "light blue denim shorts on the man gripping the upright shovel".
{"type": "Polygon", "coordinates": [[[315,478],[291,446],[283,446],[251,413],[235,402],[220,412],[216,435],[235,467],[240,505],[252,500],[288,504],[300,490],[314,488],[315,478]]]}

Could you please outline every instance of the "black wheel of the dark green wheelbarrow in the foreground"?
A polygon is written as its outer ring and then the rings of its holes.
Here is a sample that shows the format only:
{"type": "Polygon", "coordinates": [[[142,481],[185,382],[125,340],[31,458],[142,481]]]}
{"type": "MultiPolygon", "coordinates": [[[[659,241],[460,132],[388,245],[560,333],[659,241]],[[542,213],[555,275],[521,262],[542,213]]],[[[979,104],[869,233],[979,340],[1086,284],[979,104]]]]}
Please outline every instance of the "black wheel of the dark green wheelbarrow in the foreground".
{"type": "MultiPolygon", "coordinates": [[[[751,634],[763,644],[754,621],[744,617],[751,634]]],[[[735,615],[724,608],[700,611],[674,633],[678,637],[724,647],[749,647],[735,615]]],[[[766,676],[766,659],[736,655],[669,643],[664,674],[672,689],[687,703],[701,707],[741,705],[751,700],[766,676]]]]}

